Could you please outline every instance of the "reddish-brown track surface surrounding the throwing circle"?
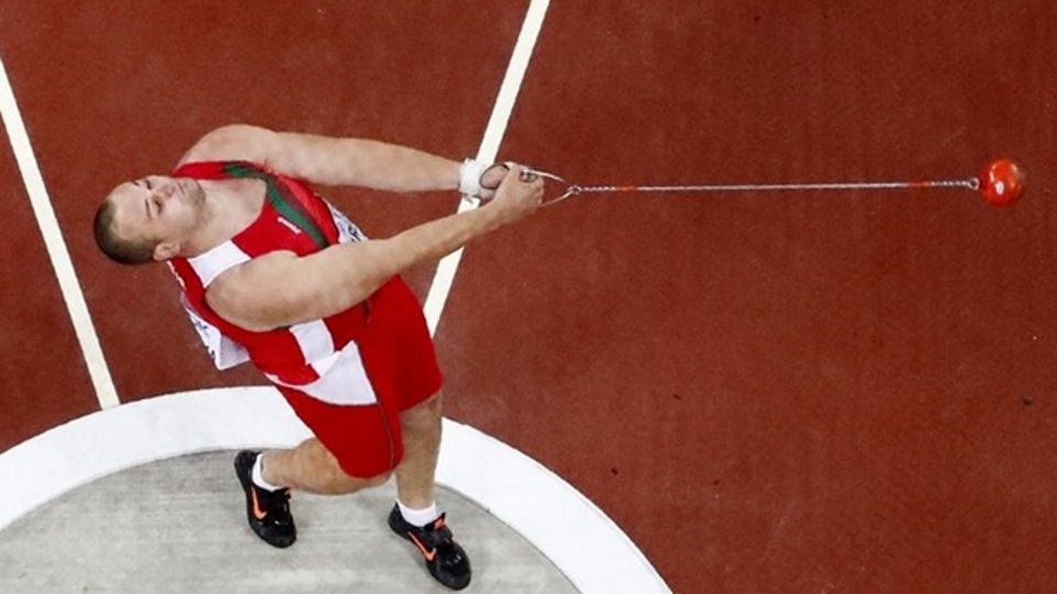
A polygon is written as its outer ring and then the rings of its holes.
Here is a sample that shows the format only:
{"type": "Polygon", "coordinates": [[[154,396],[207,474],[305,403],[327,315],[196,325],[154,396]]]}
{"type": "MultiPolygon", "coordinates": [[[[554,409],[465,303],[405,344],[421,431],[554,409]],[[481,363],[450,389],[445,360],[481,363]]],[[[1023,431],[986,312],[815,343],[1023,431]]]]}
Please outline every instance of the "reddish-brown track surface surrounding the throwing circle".
{"type": "MultiPolygon", "coordinates": [[[[472,154],[527,7],[81,4],[7,2],[0,56],[123,402],[260,381],[211,370],[163,267],[96,254],[112,185],[232,121],[472,154]]],[[[449,415],[571,482],[679,594],[1057,590],[1055,55],[1045,0],[555,2],[504,158],[695,184],[1010,155],[1028,194],[575,198],[467,251],[449,415]]],[[[98,405],[6,144],[0,190],[2,450],[98,405]]],[[[456,206],[328,194],[374,235],[456,206]]]]}

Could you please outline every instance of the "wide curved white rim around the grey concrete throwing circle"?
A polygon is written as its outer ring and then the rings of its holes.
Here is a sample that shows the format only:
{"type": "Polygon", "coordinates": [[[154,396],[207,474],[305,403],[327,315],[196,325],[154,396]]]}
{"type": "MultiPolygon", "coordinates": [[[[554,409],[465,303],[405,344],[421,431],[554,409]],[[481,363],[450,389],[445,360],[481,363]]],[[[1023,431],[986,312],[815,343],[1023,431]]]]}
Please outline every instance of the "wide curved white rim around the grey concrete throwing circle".
{"type": "MultiPolygon", "coordinates": [[[[291,448],[309,435],[266,386],[170,394],[101,410],[0,454],[0,532],[62,494],[126,469],[196,452],[291,448]]],[[[476,429],[444,420],[437,483],[521,534],[581,594],[672,594],[587,497],[476,429]]]]}

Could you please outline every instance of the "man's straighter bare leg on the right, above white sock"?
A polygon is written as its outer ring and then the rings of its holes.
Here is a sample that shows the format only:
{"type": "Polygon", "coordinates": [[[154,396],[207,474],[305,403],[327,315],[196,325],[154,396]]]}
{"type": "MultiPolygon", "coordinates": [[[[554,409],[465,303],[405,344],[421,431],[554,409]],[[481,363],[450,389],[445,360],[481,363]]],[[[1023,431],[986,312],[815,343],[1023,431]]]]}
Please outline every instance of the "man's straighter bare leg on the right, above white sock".
{"type": "Polygon", "coordinates": [[[404,460],[396,466],[396,495],[413,509],[424,509],[434,503],[442,400],[442,394],[437,393],[400,415],[404,460]]]}

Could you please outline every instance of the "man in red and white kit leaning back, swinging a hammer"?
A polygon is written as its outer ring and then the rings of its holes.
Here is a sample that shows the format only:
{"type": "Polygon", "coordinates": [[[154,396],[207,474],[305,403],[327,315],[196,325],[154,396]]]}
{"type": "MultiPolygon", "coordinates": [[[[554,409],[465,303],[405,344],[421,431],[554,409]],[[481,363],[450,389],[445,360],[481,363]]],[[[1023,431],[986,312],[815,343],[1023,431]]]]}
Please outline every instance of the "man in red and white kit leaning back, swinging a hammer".
{"type": "Polygon", "coordinates": [[[349,494],[395,475],[390,527],[437,581],[460,590],[469,560],[434,501],[440,372],[421,306],[399,274],[542,200],[543,182],[517,165],[229,125],[199,140],[171,176],[117,186],[95,233],[117,262],[167,262],[218,367],[252,361],[312,430],[292,450],[236,457],[247,519],[261,539],[275,547],[296,539],[291,490],[349,494]],[[488,201],[367,240],[306,184],[458,189],[488,201]]]}

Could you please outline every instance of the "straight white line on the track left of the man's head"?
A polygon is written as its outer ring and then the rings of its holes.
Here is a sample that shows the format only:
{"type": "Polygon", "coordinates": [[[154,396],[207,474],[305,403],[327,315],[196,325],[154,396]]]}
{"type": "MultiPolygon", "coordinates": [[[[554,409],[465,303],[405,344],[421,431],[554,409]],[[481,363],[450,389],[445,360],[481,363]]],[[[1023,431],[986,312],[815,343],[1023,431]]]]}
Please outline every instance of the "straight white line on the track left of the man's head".
{"type": "Polygon", "coordinates": [[[22,173],[22,183],[30,196],[30,204],[33,206],[33,213],[36,216],[41,234],[44,235],[44,245],[52,261],[52,267],[55,270],[58,287],[63,293],[63,299],[66,301],[66,309],[74,322],[74,331],[77,333],[77,341],[80,343],[85,363],[88,365],[88,374],[91,376],[91,384],[96,388],[99,406],[102,408],[115,407],[121,403],[118,400],[118,393],[113,387],[113,380],[110,377],[110,369],[107,366],[102,349],[99,346],[99,339],[88,314],[85,295],[80,290],[77,273],[69,260],[69,251],[66,249],[62,230],[59,230],[58,221],[55,219],[52,200],[44,187],[44,179],[41,177],[41,169],[37,166],[36,156],[33,154],[33,146],[30,144],[30,136],[25,132],[22,114],[14,100],[14,91],[11,89],[11,81],[8,80],[8,72],[2,59],[0,59],[0,116],[3,117],[3,125],[8,129],[11,148],[14,152],[15,161],[19,163],[19,170],[22,173]]]}

